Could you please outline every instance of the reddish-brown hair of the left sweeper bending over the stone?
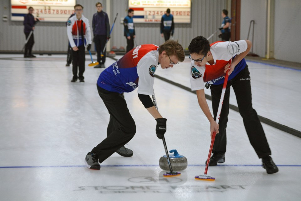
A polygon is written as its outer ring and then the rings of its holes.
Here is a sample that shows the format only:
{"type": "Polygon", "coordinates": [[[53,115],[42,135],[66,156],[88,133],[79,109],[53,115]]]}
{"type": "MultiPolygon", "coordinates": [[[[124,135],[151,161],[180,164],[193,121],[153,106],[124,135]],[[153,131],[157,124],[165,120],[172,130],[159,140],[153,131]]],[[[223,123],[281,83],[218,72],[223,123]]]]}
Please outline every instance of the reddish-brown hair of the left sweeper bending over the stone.
{"type": "Polygon", "coordinates": [[[165,51],[167,55],[175,55],[180,62],[184,61],[185,59],[185,53],[183,47],[180,43],[178,43],[178,41],[174,41],[174,40],[165,41],[165,43],[159,46],[158,51],[159,54],[165,51]]]}

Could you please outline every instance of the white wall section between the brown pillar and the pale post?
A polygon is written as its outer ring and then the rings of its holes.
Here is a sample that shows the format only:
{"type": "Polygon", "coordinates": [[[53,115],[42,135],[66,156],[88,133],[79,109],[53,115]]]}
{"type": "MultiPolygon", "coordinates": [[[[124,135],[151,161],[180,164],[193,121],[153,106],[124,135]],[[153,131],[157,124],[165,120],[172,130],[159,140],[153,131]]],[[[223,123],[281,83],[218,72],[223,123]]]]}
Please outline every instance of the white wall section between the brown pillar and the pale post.
{"type": "MultiPolygon", "coordinates": [[[[253,53],[260,57],[266,55],[266,33],[267,33],[267,1],[263,0],[241,0],[240,13],[240,39],[246,40],[250,27],[250,21],[255,20],[253,53]]],[[[249,40],[252,41],[252,26],[249,40]]]]}

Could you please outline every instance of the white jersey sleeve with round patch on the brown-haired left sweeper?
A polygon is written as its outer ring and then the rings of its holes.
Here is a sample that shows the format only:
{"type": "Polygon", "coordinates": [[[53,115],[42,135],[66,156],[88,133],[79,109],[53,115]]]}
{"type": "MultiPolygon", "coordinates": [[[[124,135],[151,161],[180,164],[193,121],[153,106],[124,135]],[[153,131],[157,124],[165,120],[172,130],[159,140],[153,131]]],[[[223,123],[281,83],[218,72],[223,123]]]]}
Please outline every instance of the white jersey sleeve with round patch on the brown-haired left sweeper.
{"type": "Polygon", "coordinates": [[[145,54],[137,63],[138,94],[153,95],[153,86],[155,81],[155,71],[157,68],[157,51],[151,51],[145,54]]]}

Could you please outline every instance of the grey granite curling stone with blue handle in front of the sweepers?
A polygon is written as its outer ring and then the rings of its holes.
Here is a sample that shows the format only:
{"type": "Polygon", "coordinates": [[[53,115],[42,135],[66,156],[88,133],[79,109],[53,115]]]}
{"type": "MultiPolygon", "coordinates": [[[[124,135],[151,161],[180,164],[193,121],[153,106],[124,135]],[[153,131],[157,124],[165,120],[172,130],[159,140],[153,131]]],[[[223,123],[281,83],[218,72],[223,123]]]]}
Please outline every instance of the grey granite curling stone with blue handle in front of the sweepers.
{"type": "MultiPolygon", "coordinates": [[[[176,149],[170,150],[169,153],[174,153],[173,155],[169,155],[172,170],[179,171],[187,168],[187,158],[185,156],[179,155],[176,149]]],[[[170,170],[166,155],[161,156],[159,160],[159,166],[162,170],[170,170]]]]}

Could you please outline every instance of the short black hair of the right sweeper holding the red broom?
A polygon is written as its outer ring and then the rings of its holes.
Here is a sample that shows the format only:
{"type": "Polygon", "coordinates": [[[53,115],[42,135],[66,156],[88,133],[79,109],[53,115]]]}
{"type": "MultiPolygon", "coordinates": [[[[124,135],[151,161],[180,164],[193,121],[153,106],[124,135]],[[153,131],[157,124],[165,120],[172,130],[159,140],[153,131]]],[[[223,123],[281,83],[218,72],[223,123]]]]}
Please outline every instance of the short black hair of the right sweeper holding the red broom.
{"type": "Polygon", "coordinates": [[[209,41],[203,36],[197,36],[190,42],[188,46],[190,54],[196,53],[199,55],[205,55],[210,51],[209,41]]]}

